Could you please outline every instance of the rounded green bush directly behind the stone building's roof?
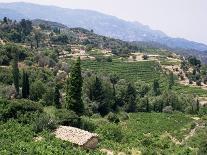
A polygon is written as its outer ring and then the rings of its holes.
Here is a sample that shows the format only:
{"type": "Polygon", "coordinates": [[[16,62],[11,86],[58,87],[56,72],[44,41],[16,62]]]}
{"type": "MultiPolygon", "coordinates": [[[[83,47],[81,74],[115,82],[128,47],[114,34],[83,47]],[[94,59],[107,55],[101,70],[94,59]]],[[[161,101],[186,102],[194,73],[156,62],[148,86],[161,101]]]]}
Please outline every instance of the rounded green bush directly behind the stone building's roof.
{"type": "Polygon", "coordinates": [[[65,126],[75,126],[80,125],[80,119],[73,111],[67,109],[58,109],[55,113],[55,118],[57,123],[65,126]]]}

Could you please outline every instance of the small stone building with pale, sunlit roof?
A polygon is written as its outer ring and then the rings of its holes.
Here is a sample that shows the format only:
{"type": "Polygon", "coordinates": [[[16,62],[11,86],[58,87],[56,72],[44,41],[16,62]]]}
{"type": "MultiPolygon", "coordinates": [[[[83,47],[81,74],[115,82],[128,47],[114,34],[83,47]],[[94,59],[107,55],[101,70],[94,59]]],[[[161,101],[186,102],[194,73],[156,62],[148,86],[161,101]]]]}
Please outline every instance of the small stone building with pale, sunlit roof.
{"type": "Polygon", "coordinates": [[[60,126],[56,129],[55,136],[86,149],[95,149],[98,144],[97,134],[70,126],[60,126]]]}

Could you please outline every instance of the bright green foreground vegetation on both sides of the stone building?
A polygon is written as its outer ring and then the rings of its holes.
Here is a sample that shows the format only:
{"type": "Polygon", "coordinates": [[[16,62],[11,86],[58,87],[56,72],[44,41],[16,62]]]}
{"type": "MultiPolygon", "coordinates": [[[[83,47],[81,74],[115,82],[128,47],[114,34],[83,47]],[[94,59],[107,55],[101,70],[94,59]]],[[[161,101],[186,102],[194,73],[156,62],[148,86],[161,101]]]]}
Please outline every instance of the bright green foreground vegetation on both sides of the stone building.
{"type": "Polygon", "coordinates": [[[12,120],[0,122],[0,154],[95,155],[101,154],[103,148],[127,154],[138,151],[143,154],[194,154],[207,138],[206,128],[199,130],[199,135],[195,134],[184,145],[177,145],[166,136],[168,133],[178,140],[183,139],[194,122],[191,117],[181,113],[134,113],[119,124],[109,123],[98,116],[88,118],[95,124],[94,132],[100,137],[98,148],[89,152],[56,139],[50,131],[35,134],[30,125],[21,125],[12,120]],[[43,137],[43,140],[35,141],[34,137],[37,136],[43,137]]]}

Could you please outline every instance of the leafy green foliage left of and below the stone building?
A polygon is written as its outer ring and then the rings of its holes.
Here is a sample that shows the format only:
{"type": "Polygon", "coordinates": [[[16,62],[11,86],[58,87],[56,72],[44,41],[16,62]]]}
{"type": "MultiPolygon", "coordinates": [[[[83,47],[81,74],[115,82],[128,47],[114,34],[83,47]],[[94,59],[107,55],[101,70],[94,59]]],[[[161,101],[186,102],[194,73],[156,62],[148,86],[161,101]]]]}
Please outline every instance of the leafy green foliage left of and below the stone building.
{"type": "Polygon", "coordinates": [[[16,121],[0,122],[0,154],[89,154],[101,155],[97,150],[86,151],[73,144],[55,138],[48,131],[39,133],[33,131],[32,126],[22,125],[16,121]],[[7,132],[5,132],[5,130],[7,132]],[[35,141],[35,137],[42,137],[35,141]]]}

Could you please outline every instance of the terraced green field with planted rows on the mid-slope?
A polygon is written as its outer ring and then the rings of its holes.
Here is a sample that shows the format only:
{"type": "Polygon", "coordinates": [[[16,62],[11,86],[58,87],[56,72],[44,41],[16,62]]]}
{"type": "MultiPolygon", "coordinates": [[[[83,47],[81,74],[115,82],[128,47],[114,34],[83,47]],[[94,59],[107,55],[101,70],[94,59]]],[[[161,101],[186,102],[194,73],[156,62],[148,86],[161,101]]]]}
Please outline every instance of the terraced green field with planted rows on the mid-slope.
{"type": "Polygon", "coordinates": [[[154,61],[125,62],[118,59],[112,62],[82,61],[82,69],[102,75],[115,73],[120,78],[132,81],[152,82],[161,76],[158,64],[154,61]]]}

